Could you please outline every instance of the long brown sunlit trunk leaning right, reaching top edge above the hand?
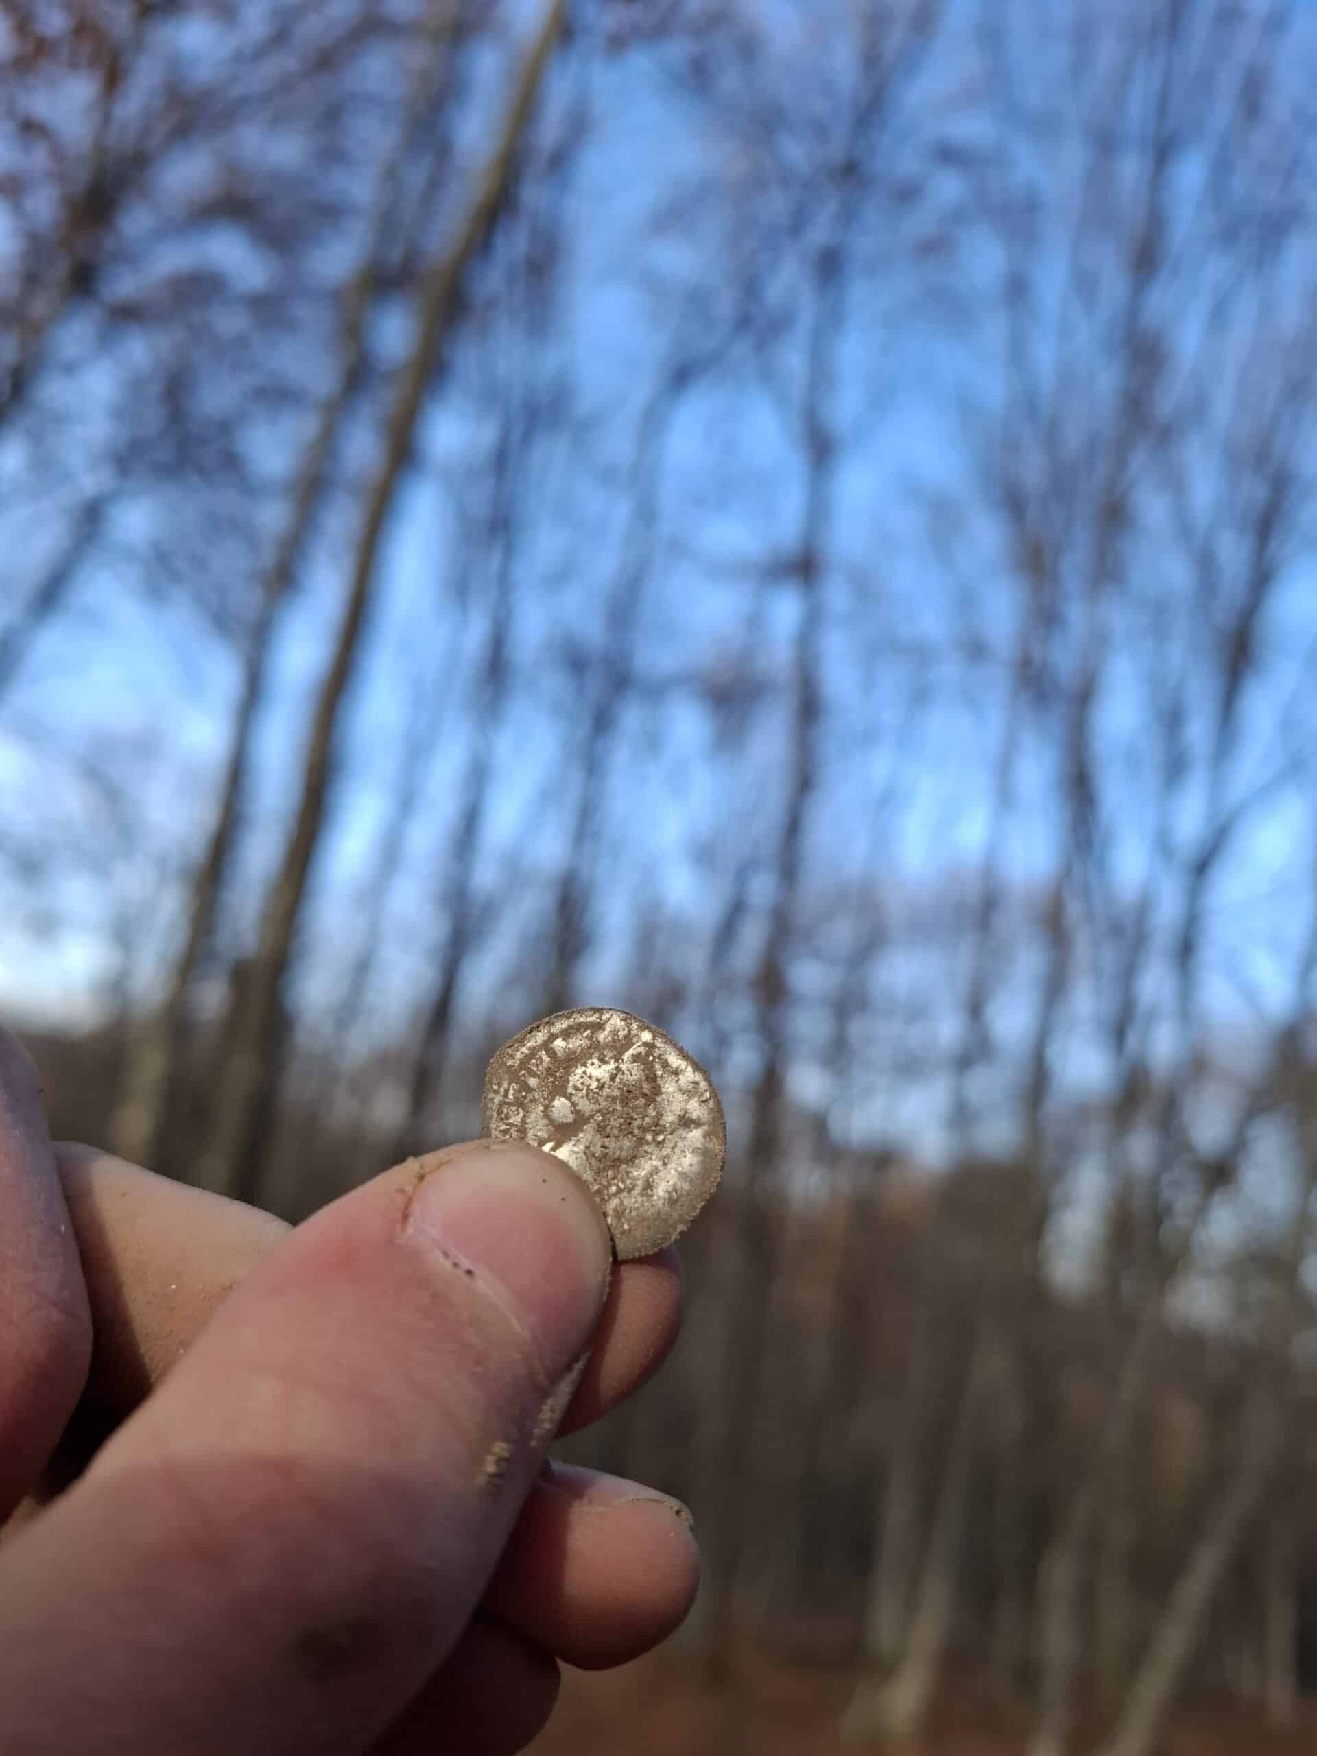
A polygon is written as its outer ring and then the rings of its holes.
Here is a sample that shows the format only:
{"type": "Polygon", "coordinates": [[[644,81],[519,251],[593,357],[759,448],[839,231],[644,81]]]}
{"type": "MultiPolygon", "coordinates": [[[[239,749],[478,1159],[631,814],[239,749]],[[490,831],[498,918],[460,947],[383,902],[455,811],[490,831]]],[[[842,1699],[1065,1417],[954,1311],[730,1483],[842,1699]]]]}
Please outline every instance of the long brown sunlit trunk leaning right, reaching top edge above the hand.
{"type": "Polygon", "coordinates": [[[465,272],[490,235],[506,200],[516,153],[539,93],[550,54],[565,16],[565,0],[550,0],[522,65],[516,90],[500,126],[499,142],[479,177],[467,212],[444,255],[427,270],[411,356],[402,369],[388,420],[385,457],[369,492],[362,536],[353,558],[348,606],[330,671],[316,706],[302,794],[293,831],[270,890],[260,931],[253,980],[235,1050],[221,1080],[216,1126],[198,1166],[204,1187],[249,1198],[256,1187],[256,1133],[265,1099],[277,1075],[279,1043],[276,1020],[279,996],[291,959],[302,915],[307,878],[325,824],[325,806],[334,771],[334,746],[356,658],[367,611],[378,585],[379,546],[385,525],[411,455],[416,421],[430,390],[460,306],[465,272]]]}

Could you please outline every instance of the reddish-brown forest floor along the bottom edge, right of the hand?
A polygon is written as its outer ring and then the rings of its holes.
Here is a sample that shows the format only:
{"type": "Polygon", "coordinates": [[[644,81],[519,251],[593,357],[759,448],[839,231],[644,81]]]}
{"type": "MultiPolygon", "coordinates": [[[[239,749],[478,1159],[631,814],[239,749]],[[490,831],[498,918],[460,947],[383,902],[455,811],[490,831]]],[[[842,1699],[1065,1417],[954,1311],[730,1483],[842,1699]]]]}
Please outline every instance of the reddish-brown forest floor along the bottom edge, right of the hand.
{"type": "MultiPolygon", "coordinates": [[[[836,1724],[850,1693],[841,1672],[743,1666],[734,1689],[711,1689],[666,1654],[616,1672],[564,1670],[562,1698],[532,1756],[853,1756],[836,1724]]],[[[1098,1730],[1098,1728],[1094,1728],[1098,1730]]],[[[939,1703],[927,1756],[1022,1756],[1026,1723],[964,1689],[939,1703]]],[[[1092,1749],[1076,1738],[1076,1749],[1092,1749]]],[[[1203,1705],[1169,1733],[1159,1756],[1312,1756],[1317,1702],[1291,1733],[1268,1731],[1256,1710],[1203,1705]]]]}

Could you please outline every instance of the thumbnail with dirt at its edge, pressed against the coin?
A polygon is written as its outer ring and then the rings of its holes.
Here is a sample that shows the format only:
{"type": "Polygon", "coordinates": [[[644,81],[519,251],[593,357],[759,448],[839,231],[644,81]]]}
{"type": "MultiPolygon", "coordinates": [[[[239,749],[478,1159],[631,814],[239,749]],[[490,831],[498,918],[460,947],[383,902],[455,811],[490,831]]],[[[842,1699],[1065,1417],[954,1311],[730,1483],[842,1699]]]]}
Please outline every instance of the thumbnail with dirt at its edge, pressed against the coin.
{"type": "Polygon", "coordinates": [[[613,1249],[585,1185],[546,1152],[478,1143],[425,1169],[404,1231],[479,1280],[532,1345],[546,1384],[578,1359],[604,1305],[613,1249]]]}

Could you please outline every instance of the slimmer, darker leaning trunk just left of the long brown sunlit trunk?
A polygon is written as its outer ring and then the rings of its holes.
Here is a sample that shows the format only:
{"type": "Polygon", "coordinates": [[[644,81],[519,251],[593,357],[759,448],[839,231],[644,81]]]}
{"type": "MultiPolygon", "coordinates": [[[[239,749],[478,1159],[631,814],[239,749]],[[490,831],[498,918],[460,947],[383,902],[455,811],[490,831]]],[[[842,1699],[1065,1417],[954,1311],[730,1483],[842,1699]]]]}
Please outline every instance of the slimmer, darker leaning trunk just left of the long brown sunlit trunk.
{"type": "Polygon", "coordinates": [[[270,555],[270,565],[260,588],[256,616],[244,643],[242,681],[234,715],[228,760],[205,845],[205,857],[197,869],[188,901],[188,924],[183,946],[170,971],[163,1003],[142,1020],[132,1038],[128,1068],[111,1122],[111,1140],[119,1157],[133,1164],[156,1166],[162,1159],[174,1083],[186,1057],[191,990],[211,941],[216,908],[225,890],[242,824],[242,797],[251,766],[256,720],[265,697],[274,627],[297,579],[306,539],[325,490],[334,448],[360,378],[379,253],[390,242],[399,181],[413,144],[414,123],[450,46],[455,16],[455,0],[435,0],[427,16],[425,33],[430,42],[427,46],[425,68],[413,81],[407,114],[399,132],[397,146],[390,153],[379,179],[367,244],[342,293],[337,376],[320,407],[309,444],[302,453],[302,465],[293,485],[288,515],[270,555]]]}

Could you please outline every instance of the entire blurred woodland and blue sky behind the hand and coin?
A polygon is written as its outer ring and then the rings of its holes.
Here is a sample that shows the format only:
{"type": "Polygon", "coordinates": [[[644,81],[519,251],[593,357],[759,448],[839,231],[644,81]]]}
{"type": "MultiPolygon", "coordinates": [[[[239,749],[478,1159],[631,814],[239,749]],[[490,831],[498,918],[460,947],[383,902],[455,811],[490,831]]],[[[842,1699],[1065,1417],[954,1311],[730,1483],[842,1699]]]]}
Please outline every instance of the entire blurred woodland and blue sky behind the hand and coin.
{"type": "Polygon", "coordinates": [[[1310,1749],[1317,14],[11,0],[0,1010],[297,1219],[620,1004],[685,1633],[544,1756],[1310,1749]],[[1306,1730],[1305,1730],[1306,1726],[1306,1730]]]}

